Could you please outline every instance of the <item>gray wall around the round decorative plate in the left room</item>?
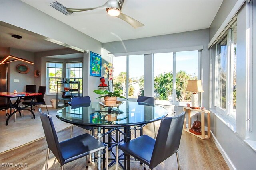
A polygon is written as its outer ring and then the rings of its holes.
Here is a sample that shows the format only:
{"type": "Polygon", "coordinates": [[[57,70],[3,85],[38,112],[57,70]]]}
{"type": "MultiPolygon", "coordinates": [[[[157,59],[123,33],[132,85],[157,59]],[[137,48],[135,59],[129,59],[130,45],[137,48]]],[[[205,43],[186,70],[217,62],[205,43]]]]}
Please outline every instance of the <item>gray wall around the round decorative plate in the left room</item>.
{"type": "MultiPolygon", "coordinates": [[[[10,48],[10,55],[15,57],[27,59],[34,62],[34,53],[29,51],[24,51],[20,49],[10,48]]],[[[24,61],[14,61],[8,64],[8,90],[13,92],[16,89],[18,92],[25,92],[26,85],[34,84],[34,65],[26,63],[24,61]],[[29,67],[29,72],[27,74],[19,73],[16,70],[18,64],[26,64],[29,67]],[[18,79],[20,82],[15,82],[14,79],[18,79]]]]}

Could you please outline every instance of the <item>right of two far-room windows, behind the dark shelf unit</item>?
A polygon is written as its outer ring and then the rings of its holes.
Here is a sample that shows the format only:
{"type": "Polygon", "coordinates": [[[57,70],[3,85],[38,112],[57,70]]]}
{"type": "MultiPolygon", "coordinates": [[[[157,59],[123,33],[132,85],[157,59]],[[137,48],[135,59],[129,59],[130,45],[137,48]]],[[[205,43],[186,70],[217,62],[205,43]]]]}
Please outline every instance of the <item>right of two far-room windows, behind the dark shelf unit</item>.
{"type": "MultiPolygon", "coordinates": [[[[68,62],[66,63],[66,78],[70,78],[70,81],[76,80],[80,83],[80,93],[82,94],[82,87],[83,87],[83,63],[82,61],[78,62],[68,62]]],[[[73,88],[77,89],[78,84],[74,84],[73,88]]]]}

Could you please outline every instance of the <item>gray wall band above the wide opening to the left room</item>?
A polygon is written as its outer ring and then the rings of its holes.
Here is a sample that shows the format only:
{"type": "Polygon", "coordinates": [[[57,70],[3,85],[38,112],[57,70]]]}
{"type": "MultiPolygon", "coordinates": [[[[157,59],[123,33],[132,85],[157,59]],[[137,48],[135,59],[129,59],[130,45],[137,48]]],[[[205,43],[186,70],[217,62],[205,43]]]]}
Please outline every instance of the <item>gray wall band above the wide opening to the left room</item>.
{"type": "Polygon", "coordinates": [[[100,53],[99,41],[22,1],[0,1],[0,16],[1,21],[11,25],[80,49],[100,53]]]}

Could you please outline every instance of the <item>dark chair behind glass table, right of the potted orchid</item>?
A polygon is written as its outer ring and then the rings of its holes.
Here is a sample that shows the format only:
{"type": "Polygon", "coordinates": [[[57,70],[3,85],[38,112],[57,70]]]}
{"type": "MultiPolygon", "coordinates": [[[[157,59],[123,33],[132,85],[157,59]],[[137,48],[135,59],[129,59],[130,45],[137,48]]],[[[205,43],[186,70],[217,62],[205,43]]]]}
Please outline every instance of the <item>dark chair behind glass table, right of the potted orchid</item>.
{"type": "MultiPolygon", "coordinates": [[[[137,98],[137,102],[142,102],[142,103],[146,103],[149,105],[155,105],[155,98],[153,97],[148,97],[148,96],[138,96],[137,98]]],[[[139,103],[138,103],[139,104],[139,103]]],[[[143,135],[143,126],[145,125],[140,125],[140,126],[136,126],[134,128],[134,134],[135,134],[135,138],[137,135],[137,130],[140,130],[140,135],[143,135]]],[[[155,128],[155,122],[153,122],[153,128],[154,128],[154,138],[156,139],[156,128],[155,128]]]]}

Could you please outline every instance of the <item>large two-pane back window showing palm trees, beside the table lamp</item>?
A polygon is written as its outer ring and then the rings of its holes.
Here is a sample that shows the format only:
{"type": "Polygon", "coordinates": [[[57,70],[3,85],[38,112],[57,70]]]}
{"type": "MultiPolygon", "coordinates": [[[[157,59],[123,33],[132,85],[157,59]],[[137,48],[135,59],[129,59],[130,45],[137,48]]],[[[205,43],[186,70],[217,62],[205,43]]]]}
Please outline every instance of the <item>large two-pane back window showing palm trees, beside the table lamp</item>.
{"type": "Polygon", "coordinates": [[[168,104],[163,100],[181,106],[190,102],[187,80],[197,78],[198,50],[154,54],[154,97],[160,104],[168,104]]]}

